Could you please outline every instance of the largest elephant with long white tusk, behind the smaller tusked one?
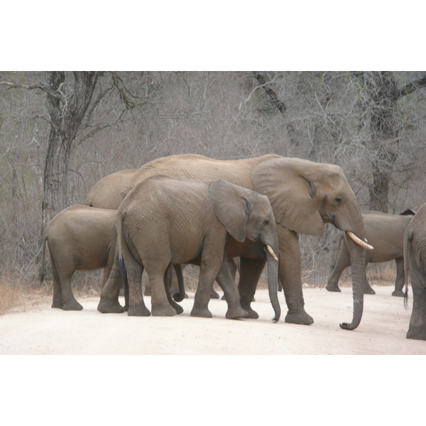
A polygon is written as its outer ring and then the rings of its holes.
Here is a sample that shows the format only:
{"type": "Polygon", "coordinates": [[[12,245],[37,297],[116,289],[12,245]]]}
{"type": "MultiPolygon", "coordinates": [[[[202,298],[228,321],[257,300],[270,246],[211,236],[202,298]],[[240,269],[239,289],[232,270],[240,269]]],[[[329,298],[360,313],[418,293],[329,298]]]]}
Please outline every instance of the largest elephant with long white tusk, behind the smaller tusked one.
{"type": "MultiPolygon", "coordinates": [[[[195,154],[170,155],[143,165],[120,194],[106,192],[104,200],[110,200],[110,209],[118,209],[119,195],[122,200],[138,182],[158,173],[185,179],[224,179],[269,198],[277,222],[279,279],[288,306],[285,322],[307,325],[314,322],[305,311],[297,233],[320,236],[324,232],[324,223],[332,223],[345,231],[349,236],[352,259],[354,315],[351,323],[344,322],[340,327],[355,329],[359,326],[366,281],[364,249],[371,249],[371,246],[364,242],[364,222],[342,168],[275,154],[241,160],[213,160],[195,154]]],[[[261,262],[251,260],[241,258],[239,291],[242,306],[250,304],[251,300],[247,298],[254,295],[261,274],[258,269],[263,268],[261,262]]]]}

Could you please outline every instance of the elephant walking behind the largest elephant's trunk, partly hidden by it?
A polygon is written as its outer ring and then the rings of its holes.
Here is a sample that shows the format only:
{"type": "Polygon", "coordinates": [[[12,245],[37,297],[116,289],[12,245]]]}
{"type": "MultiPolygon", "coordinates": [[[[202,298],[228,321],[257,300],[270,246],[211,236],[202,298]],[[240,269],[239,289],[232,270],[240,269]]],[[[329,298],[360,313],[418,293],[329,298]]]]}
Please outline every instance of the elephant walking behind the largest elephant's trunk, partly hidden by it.
{"type": "MultiPolygon", "coordinates": [[[[403,297],[404,295],[404,233],[410,220],[413,219],[413,215],[414,212],[410,209],[406,209],[401,214],[386,214],[373,210],[362,213],[366,239],[374,247],[374,250],[366,251],[366,264],[393,260],[396,262],[396,279],[395,290],[392,293],[393,296],[403,297]]],[[[339,238],[332,273],[325,287],[328,291],[340,291],[338,285],[339,278],[348,266],[351,266],[351,259],[349,258],[349,251],[346,244],[344,244],[342,234],[339,238]]],[[[368,281],[366,281],[364,283],[364,294],[373,295],[375,293],[373,288],[368,284],[368,281]]]]}

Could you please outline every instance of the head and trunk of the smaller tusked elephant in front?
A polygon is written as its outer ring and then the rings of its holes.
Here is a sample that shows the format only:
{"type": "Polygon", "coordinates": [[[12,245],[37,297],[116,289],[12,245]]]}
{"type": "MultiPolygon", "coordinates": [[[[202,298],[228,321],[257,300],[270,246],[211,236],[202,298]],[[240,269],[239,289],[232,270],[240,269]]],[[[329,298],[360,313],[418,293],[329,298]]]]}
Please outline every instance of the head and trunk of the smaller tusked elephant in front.
{"type": "Polygon", "coordinates": [[[246,239],[262,244],[268,265],[268,291],[275,317],[280,318],[278,302],[278,234],[268,197],[225,180],[210,185],[214,214],[236,241],[246,239]]]}

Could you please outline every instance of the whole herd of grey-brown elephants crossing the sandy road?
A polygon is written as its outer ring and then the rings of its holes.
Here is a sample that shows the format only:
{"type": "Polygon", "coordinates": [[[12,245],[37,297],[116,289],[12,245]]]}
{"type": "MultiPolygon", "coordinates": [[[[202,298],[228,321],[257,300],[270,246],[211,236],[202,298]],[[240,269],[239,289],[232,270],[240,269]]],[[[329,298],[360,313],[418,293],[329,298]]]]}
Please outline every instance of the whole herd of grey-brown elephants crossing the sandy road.
{"type": "Polygon", "coordinates": [[[350,265],[354,300],[352,321],[340,327],[358,327],[364,293],[374,293],[366,264],[395,259],[393,295],[404,295],[411,271],[414,302],[407,337],[426,339],[426,232],[420,231],[426,207],[415,216],[411,211],[361,214],[337,165],[273,154],[243,160],[170,155],[99,180],[85,204],[63,210],[45,229],[42,264],[47,243],[52,307],[81,310],[72,294],[73,273],[104,268],[99,312],[179,314],[177,302],[185,293],[180,265],[192,263],[200,266],[200,276],[191,316],[212,317],[208,303],[217,281],[228,305],[226,318],[257,318],[251,302],[266,266],[273,321],[280,318],[281,285],[288,307],[285,322],[309,325],[313,319],[304,307],[297,234],[320,236],[324,223],[331,223],[343,232],[327,290],[340,291],[339,276],[350,265]],[[231,268],[236,257],[238,287],[231,268]],[[403,258],[410,258],[405,271],[403,258]],[[167,283],[170,266],[178,276],[174,295],[167,283]],[[143,300],[144,270],[151,283],[151,312],[143,300]],[[123,283],[124,307],[119,304],[123,283]]]}

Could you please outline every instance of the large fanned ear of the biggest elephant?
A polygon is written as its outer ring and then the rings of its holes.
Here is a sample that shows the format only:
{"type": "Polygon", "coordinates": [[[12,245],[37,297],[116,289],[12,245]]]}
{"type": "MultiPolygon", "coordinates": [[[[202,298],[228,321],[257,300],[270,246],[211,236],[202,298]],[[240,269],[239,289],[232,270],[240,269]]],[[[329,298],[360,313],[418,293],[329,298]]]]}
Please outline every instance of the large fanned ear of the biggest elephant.
{"type": "Polygon", "coordinates": [[[300,234],[322,235],[324,222],[310,180],[313,167],[299,158],[271,158],[255,165],[250,178],[254,190],[269,198],[276,222],[300,234]]]}

